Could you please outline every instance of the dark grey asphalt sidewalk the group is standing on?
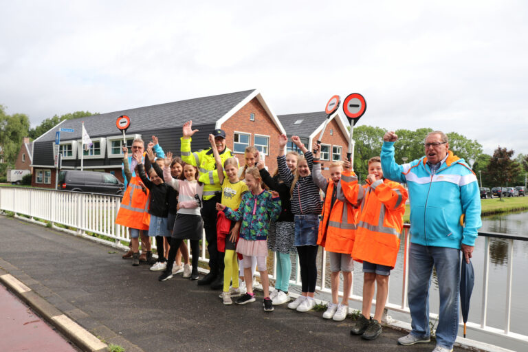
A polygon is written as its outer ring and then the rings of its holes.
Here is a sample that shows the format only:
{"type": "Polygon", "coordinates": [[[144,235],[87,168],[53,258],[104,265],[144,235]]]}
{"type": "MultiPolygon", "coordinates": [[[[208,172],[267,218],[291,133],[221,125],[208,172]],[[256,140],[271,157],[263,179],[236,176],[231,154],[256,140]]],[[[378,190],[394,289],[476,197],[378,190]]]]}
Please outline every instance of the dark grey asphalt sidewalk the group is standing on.
{"type": "MultiPolygon", "coordinates": [[[[147,265],[86,239],[0,216],[0,269],[108,343],[133,351],[432,351],[399,346],[405,333],[384,327],[371,342],[350,336],[354,322],[298,313],[286,305],[224,306],[219,292],[180,275],[157,281],[147,265]]],[[[455,348],[455,351],[464,351],[455,348]]]]}

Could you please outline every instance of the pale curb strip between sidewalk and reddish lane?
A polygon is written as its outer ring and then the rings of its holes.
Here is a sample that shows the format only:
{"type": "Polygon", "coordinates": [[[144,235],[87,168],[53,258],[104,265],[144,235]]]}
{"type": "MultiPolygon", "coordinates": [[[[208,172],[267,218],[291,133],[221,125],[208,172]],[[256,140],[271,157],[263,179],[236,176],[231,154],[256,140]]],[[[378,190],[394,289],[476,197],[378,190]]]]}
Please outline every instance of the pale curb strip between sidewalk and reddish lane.
{"type": "MultiPolygon", "coordinates": [[[[1,270],[3,272],[3,270],[1,270]]],[[[12,293],[28,304],[37,314],[44,318],[50,325],[69,340],[76,347],[83,351],[104,352],[108,351],[108,345],[101,342],[85,328],[78,325],[74,320],[68,318],[62,311],[59,311],[48,303],[44,298],[36,294],[30,287],[24,285],[11,274],[1,274],[0,281],[8,287],[12,293]]]]}

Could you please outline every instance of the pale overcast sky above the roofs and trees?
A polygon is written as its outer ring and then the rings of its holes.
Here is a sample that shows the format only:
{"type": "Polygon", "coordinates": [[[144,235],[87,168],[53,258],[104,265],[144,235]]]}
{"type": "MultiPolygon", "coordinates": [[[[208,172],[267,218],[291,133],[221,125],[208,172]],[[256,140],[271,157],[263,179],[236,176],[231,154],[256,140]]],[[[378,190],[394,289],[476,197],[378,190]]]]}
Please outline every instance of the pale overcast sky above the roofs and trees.
{"type": "Polygon", "coordinates": [[[527,1],[0,0],[0,104],[32,126],[259,89],[278,115],[358,92],[358,125],[528,154],[527,1]]]}

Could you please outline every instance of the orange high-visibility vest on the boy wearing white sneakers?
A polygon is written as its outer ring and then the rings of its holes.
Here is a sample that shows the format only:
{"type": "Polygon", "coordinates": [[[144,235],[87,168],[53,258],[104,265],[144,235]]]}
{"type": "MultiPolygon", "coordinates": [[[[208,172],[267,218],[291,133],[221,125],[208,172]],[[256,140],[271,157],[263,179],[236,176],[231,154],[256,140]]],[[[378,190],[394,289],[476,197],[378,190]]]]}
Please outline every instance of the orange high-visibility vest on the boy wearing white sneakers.
{"type": "Polygon", "coordinates": [[[322,206],[322,221],[319,225],[317,244],[324,247],[327,252],[351,254],[358,209],[349,202],[339,199],[336,199],[331,206],[334,187],[335,184],[329,179],[325,204],[322,206]]]}

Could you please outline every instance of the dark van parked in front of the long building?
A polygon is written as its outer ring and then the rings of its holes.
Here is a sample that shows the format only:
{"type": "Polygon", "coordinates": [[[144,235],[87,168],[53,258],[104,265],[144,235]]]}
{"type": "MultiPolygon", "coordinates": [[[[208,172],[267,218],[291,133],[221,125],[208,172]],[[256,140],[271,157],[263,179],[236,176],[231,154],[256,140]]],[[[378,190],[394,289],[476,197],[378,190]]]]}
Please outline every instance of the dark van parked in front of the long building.
{"type": "Polygon", "coordinates": [[[97,171],[62,170],[58,174],[57,188],[107,195],[122,195],[124,192],[124,184],[114,175],[97,171]]]}

